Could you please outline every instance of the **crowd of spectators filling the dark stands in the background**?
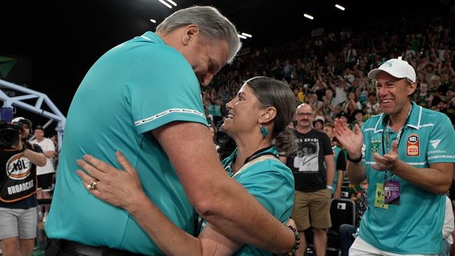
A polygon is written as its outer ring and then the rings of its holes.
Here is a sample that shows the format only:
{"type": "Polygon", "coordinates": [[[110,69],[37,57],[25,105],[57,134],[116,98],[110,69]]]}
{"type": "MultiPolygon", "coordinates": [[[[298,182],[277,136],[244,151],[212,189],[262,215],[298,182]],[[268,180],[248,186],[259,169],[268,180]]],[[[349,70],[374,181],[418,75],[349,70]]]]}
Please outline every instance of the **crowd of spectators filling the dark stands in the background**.
{"type": "Polygon", "coordinates": [[[375,22],[374,31],[341,29],[288,43],[248,48],[226,66],[202,92],[207,115],[219,127],[224,104],[243,81],[269,76],[288,83],[296,106],[309,103],[316,120],[333,122],[344,116],[362,123],[380,113],[374,81],[366,77],[386,59],[402,57],[416,70],[417,104],[455,120],[454,18],[419,15],[394,22],[375,22]]]}

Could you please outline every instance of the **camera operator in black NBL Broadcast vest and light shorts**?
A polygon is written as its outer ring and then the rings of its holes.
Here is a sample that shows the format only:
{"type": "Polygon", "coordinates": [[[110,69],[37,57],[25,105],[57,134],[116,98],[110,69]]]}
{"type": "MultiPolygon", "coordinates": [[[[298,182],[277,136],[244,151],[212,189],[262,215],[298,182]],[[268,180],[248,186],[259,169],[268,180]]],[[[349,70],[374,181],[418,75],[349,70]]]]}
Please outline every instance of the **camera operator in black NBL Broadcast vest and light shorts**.
{"type": "Polygon", "coordinates": [[[36,166],[43,150],[27,142],[31,122],[0,122],[0,241],[3,256],[31,255],[36,237],[36,166]]]}

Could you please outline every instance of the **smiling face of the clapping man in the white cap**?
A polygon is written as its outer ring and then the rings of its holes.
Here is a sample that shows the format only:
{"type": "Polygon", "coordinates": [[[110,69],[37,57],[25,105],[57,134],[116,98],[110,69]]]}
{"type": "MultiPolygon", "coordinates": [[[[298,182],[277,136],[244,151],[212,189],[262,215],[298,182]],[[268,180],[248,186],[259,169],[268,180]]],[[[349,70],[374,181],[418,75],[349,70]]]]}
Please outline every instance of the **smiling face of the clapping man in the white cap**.
{"type": "Polygon", "coordinates": [[[395,78],[381,71],[376,77],[376,96],[381,110],[386,115],[396,115],[409,104],[408,95],[416,89],[416,83],[409,83],[406,78],[395,78]]]}

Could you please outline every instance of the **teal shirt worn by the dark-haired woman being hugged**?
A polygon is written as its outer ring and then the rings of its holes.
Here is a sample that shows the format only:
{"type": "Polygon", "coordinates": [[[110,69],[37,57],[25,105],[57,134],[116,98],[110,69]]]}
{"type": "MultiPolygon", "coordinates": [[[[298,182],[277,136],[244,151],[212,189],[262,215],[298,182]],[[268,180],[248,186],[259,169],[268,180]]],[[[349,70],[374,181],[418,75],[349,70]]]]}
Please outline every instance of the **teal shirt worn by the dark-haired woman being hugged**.
{"type": "MultiPolygon", "coordinates": [[[[262,153],[278,156],[274,147],[262,153]]],[[[232,160],[235,157],[237,157],[237,149],[222,162],[230,176],[232,176],[232,160]]],[[[251,158],[253,157],[254,155],[251,158]]],[[[246,167],[234,178],[276,219],[283,223],[288,221],[294,205],[294,176],[286,164],[279,159],[260,160],[246,167]]],[[[234,255],[272,255],[272,253],[244,245],[234,255]]]]}

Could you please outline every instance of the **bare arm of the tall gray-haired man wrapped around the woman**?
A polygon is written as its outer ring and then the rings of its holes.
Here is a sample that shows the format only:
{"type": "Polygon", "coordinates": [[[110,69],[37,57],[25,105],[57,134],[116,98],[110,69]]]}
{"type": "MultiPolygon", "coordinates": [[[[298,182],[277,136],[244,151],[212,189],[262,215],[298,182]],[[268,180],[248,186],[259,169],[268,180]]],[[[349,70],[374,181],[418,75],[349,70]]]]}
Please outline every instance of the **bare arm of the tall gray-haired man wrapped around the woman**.
{"type": "Polygon", "coordinates": [[[153,136],[167,153],[190,203],[222,234],[273,253],[293,247],[293,232],[228,176],[207,127],[172,122],[153,130],[153,136]]]}

